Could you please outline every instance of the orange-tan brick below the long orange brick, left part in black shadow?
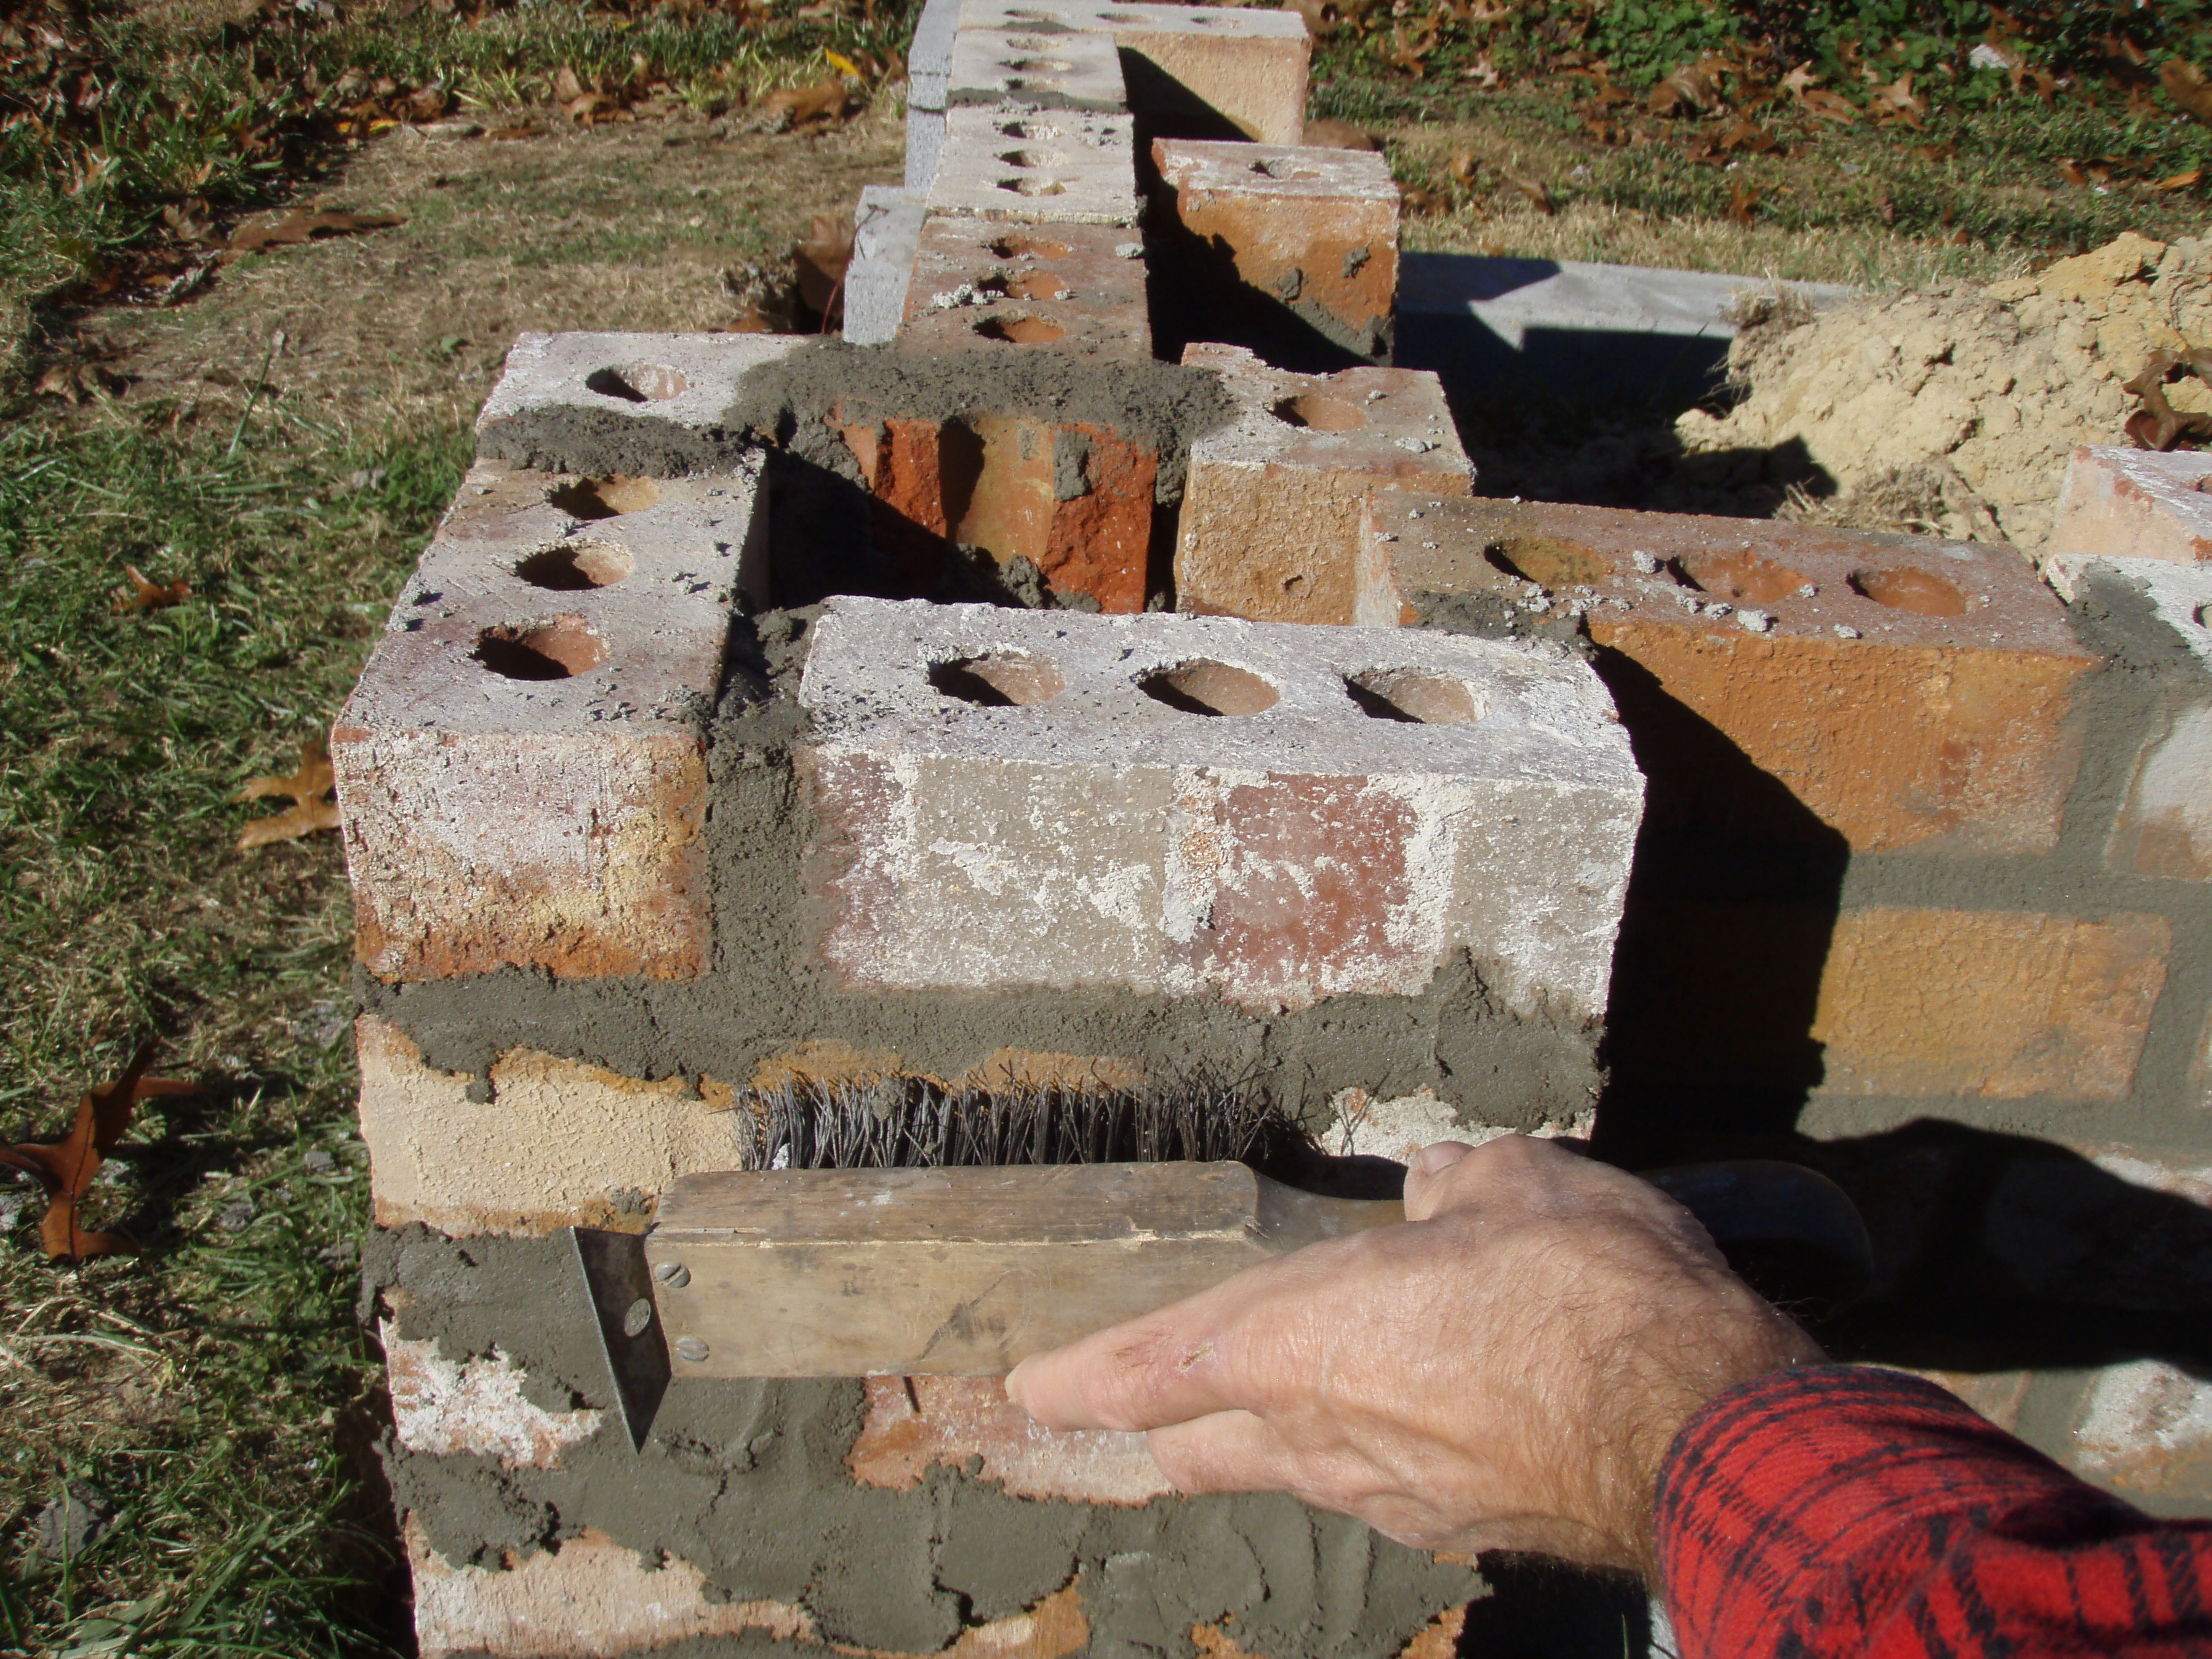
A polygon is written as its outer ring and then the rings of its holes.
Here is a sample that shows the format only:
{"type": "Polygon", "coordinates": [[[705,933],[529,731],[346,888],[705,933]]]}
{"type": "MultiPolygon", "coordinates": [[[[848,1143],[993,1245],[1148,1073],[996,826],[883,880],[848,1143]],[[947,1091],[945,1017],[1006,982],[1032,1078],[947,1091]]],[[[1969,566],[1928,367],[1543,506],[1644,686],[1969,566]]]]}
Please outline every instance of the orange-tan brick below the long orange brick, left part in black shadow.
{"type": "Polygon", "coordinates": [[[1644,927],[1674,967],[1621,967],[1639,995],[1615,1042],[1639,1077],[1902,1099],[2126,1099],[2172,949],[2163,916],[2130,914],[1670,898],[1644,927]]]}

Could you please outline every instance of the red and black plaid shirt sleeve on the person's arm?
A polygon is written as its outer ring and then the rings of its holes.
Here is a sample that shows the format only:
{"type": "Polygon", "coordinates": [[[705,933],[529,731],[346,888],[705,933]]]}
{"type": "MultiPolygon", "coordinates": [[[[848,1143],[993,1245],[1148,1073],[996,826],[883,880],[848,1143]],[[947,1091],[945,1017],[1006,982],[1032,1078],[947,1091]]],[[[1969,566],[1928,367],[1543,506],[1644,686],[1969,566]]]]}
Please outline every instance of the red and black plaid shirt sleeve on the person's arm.
{"type": "Polygon", "coordinates": [[[1699,1411],[1659,1564],[1683,1659],[2212,1655],[2212,1522],[2152,1520],[1898,1371],[1699,1411]]]}

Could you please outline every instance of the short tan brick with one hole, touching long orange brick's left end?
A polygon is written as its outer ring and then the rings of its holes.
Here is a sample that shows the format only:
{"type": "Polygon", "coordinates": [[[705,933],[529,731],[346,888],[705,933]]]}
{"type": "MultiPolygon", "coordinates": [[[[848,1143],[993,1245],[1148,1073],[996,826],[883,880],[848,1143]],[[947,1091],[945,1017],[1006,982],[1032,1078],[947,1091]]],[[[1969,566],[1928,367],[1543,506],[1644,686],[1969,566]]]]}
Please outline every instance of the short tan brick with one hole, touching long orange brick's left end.
{"type": "Polygon", "coordinates": [[[1287,374],[1228,345],[1192,345],[1183,363],[1221,374],[1241,416],[1190,447],[1179,611],[1349,624],[1365,498],[1473,489],[1433,374],[1287,374]]]}

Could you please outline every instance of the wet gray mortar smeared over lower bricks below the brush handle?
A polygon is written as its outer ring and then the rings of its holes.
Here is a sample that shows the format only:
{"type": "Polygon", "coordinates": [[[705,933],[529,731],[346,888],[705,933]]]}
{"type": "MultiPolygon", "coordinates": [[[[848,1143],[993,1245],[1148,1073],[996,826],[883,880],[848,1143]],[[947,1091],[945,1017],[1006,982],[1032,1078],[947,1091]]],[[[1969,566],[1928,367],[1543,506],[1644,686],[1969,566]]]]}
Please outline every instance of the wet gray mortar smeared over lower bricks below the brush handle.
{"type": "MultiPolygon", "coordinates": [[[[931,1471],[911,1491],[860,1486],[845,1455],[858,1380],[677,1380],[641,1451],[613,1411],[571,1245],[372,1230],[363,1318],[398,1303],[400,1336],[449,1360],[498,1352],[549,1411],[608,1411],[560,1469],[429,1455],[385,1438],[394,1502],[447,1562],[498,1568],[597,1526],[657,1562],[681,1557],[732,1599],[799,1604],[825,1641],[927,1655],[962,1626],[1033,1606],[1079,1575],[1088,1652],[1190,1655],[1190,1626],[1234,1615],[1254,1652],[1380,1659],[1451,1606],[1486,1595],[1467,1566],[1391,1544],[1283,1495],[1091,1506],[1009,1498],[931,1471]]],[[[768,1635],[655,1646],[723,1659],[821,1652],[768,1635]]]]}

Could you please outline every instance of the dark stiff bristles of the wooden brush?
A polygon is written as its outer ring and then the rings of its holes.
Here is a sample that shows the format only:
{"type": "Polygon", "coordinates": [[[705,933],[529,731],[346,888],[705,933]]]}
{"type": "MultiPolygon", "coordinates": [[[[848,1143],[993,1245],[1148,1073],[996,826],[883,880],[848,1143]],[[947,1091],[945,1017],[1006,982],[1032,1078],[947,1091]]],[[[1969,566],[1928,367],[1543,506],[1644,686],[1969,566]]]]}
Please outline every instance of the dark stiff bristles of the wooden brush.
{"type": "Polygon", "coordinates": [[[739,1110],[757,1170],[995,1168],[1006,1164],[1296,1164],[1310,1137],[1250,1084],[1166,1088],[1006,1084],[942,1088],[922,1077],[796,1079],[739,1110]]]}

